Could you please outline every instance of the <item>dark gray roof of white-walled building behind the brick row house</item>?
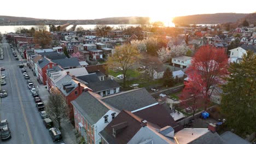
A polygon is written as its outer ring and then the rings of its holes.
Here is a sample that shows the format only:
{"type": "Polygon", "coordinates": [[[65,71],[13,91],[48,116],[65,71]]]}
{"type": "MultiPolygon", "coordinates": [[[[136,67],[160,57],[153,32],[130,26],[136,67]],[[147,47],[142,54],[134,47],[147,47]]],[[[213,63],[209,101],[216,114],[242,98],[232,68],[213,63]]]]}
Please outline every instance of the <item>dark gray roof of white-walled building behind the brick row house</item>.
{"type": "Polygon", "coordinates": [[[88,84],[86,84],[86,86],[91,88],[95,93],[106,91],[107,89],[121,87],[118,82],[112,79],[97,82],[89,82],[88,84]]]}

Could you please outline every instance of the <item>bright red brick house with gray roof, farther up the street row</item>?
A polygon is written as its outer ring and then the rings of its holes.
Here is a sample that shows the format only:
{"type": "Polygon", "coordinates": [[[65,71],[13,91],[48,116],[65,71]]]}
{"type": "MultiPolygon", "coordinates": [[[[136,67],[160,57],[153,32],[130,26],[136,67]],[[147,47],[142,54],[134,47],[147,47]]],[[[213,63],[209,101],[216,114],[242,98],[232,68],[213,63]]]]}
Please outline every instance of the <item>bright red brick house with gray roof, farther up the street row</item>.
{"type": "Polygon", "coordinates": [[[37,62],[37,71],[38,71],[38,80],[43,82],[43,85],[46,85],[46,70],[55,67],[57,64],[51,62],[48,58],[40,59],[37,62]]]}

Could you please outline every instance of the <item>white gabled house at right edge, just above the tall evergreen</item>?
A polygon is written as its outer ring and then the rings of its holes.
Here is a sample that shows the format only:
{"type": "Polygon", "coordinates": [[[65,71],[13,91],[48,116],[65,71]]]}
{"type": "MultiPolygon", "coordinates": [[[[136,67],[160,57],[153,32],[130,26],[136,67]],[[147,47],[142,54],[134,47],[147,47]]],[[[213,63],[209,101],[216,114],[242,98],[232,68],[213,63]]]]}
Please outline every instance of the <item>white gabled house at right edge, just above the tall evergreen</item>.
{"type": "Polygon", "coordinates": [[[251,50],[256,53],[256,46],[255,45],[240,45],[239,47],[229,50],[230,51],[230,58],[229,61],[237,62],[237,59],[241,59],[243,54],[247,54],[247,51],[251,50]]]}

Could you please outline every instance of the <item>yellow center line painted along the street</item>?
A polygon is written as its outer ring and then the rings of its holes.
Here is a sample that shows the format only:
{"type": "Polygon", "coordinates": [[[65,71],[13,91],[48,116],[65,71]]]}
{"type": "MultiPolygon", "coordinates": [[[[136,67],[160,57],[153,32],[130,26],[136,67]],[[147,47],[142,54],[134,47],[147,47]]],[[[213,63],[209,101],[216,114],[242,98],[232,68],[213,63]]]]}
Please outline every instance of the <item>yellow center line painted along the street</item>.
{"type": "MultiPolygon", "coordinates": [[[[11,68],[13,69],[13,67],[11,67],[11,68]]],[[[12,71],[13,71],[13,76],[14,76],[16,88],[17,88],[17,91],[18,91],[18,97],[19,97],[19,101],[20,101],[21,110],[22,110],[23,117],[24,117],[24,120],[25,120],[25,123],[26,123],[26,127],[27,127],[27,132],[28,132],[28,135],[30,136],[30,142],[31,142],[31,144],[33,144],[34,142],[33,142],[33,139],[32,139],[31,132],[30,132],[30,127],[29,127],[29,125],[27,123],[27,116],[26,116],[26,113],[24,111],[24,106],[23,106],[22,100],[21,100],[21,95],[20,95],[20,89],[19,89],[19,86],[18,86],[18,81],[17,81],[16,76],[14,74],[14,69],[12,71]]]]}

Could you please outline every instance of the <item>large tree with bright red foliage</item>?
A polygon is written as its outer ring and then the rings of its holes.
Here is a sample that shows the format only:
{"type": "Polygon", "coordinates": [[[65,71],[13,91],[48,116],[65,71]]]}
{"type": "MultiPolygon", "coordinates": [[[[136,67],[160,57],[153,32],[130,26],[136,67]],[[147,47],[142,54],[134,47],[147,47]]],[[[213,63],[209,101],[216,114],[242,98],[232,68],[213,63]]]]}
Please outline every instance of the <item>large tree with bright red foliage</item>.
{"type": "Polygon", "coordinates": [[[228,57],[224,49],[212,49],[208,46],[201,47],[191,60],[191,65],[186,71],[189,79],[181,94],[181,101],[191,101],[198,106],[202,101],[207,109],[213,89],[223,83],[223,77],[227,73],[228,57]]]}

